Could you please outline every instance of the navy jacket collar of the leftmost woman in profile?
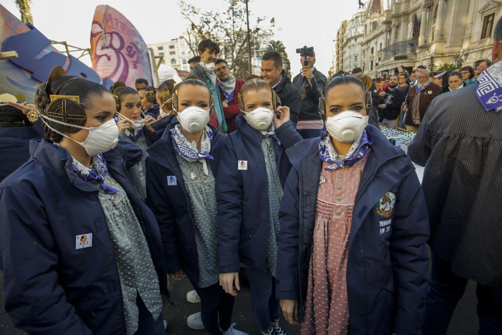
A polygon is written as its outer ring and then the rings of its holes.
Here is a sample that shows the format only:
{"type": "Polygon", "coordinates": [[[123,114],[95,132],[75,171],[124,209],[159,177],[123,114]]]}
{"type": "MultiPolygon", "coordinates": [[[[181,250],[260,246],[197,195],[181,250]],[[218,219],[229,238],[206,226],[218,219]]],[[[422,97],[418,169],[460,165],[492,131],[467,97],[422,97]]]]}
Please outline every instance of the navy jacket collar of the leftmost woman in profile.
{"type": "MultiPolygon", "coordinates": [[[[110,163],[121,161],[125,154],[125,150],[117,146],[103,156],[109,167],[110,163]]],[[[70,183],[80,190],[85,192],[98,191],[96,187],[83,181],[73,171],[72,159],[68,151],[60,146],[54,145],[48,139],[30,141],[30,155],[38,164],[49,169],[56,176],[62,179],[68,179],[70,183]]]]}

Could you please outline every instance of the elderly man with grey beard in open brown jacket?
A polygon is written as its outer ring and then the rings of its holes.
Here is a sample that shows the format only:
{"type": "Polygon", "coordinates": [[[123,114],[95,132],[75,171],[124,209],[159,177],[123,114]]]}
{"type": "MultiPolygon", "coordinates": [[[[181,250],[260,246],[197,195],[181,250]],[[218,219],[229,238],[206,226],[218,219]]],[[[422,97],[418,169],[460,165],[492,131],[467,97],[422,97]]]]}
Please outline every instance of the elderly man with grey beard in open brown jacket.
{"type": "Polygon", "coordinates": [[[426,69],[417,71],[417,84],[412,86],[406,97],[408,112],[406,114],[406,130],[416,133],[422,122],[425,111],[441,87],[432,83],[426,69]]]}

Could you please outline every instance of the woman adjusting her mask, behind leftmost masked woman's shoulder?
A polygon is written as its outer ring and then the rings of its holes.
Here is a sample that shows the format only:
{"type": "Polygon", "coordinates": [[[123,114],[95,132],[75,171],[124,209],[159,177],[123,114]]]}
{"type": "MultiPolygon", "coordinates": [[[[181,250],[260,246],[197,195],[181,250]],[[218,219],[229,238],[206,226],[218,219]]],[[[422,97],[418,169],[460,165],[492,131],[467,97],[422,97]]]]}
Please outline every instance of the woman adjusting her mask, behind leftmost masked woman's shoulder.
{"type": "Polygon", "coordinates": [[[134,185],[142,199],[146,198],[146,160],[148,158],[147,148],[153,141],[149,138],[154,135],[155,130],[152,123],[155,119],[150,115],[142,117],[141,98],[138,91],[132,87],[125,86],[117,82],[112,87],[112,95],[115,98],[116,110],[115,121],[117,123],[120,136],[128,139],[143,150],[141,162],[129,169],[133,177],[134,185]],[[117,85],[117,86],[115,86],[117,85]]]}

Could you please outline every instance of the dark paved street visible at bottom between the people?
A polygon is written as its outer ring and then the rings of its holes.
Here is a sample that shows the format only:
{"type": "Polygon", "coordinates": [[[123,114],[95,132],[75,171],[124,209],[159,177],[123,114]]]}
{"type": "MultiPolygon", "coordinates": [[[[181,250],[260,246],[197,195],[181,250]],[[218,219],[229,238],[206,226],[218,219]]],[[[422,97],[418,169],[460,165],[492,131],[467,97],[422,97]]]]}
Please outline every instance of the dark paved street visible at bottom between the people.
{"type": "MultiPolygon", "coordinates": [[[[3,283],[3,277],[0,276],[0,283],[3,283]]],[[[250,291],[247,283],[241,285],[242,292],[235,300],[235,307],[233,311],[233,322],[236,323],[235,327],[239,330],[244,330],[249,334],[259,334],[250,304],[250,291]]],[[[464,297],[460,300],[455,313],[453,314],[448,335],[474,335],[477,334],[478,321],[476,316],[476,293],[475,284],[468,283],[467,290],[464,297]]],[[[198,304],[191,304],[186,301],[186,292],[191,290],[191,285],[188,279],[181,282],[174,283],[171,289],[171,299],[174,305],[165,303],[164,318],[168,321],[169,325],[167,333],[172,335],[202,335],[203,330],[192,330],[186,325],[186,318],[188,315],[198,311],[198,304]]],[[[4,294],[3,290],[0,294],[0,334],[1,335],[18,335],[24,334],[23,331],[13,327],[11,320],[4,310],[4,294]]],[[[291,326],[282,322],[284,328],[289,334],[299,334],[298,327],[291,326]]]]}

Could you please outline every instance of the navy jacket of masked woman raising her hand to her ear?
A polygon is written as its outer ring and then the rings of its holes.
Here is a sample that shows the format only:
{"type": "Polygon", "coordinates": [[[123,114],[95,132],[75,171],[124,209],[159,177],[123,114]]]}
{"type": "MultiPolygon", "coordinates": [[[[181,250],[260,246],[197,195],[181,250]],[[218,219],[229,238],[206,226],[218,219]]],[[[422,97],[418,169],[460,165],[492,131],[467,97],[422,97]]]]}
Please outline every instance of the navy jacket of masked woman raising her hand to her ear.
{"type": "MultiPolygon", "coordinates": [[[[238,272],[239,262],[265,271],[269,232],[267,168],[262,151],[262,134],[236,118],[237,131],[225,140],[218,162],[219,272],[238,272]],[[238,170],[238,161],[247,161],[247,170],[238,170]]],[[[291,170],[286,149],[302,140],[291,121],[276,129],[274,152],[277,171],[284,187],[291,170]]]]}

